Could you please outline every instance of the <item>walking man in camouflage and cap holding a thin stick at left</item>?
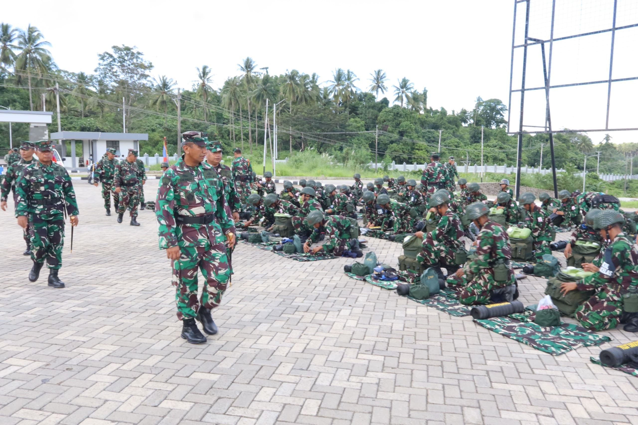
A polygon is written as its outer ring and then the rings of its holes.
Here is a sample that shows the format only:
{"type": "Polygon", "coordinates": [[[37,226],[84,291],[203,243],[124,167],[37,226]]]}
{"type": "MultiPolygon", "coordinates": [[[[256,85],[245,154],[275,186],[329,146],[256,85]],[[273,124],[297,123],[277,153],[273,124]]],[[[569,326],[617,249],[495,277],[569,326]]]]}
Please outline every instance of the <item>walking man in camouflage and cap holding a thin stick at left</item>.
{"type": "Polygon", "coordinates": [[[38,280],[46,259],[48,286],[64,288],[64,282],[57,276],[62,267],[64,209],[66,207],[71,226],[77,226],[79,213],[71,177],[62,165],[52,161],[52,145],[51,140],[36,142],[38,161],[24,167],[15,184],[15,216],[20,227],[31,228],[33,268],[29,280],[38,280]]]}

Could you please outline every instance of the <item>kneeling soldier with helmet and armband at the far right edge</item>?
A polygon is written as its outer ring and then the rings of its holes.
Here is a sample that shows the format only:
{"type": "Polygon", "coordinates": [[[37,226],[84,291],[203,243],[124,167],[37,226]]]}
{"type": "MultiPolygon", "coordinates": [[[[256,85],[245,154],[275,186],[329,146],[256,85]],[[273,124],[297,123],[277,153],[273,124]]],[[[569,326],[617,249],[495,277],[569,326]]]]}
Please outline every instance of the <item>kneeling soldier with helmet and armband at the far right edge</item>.
{"type": "MultiPolygon", "coordinates": [[[[614,329],[623,316],[623,295],[638,285],[638,250],[622,231],[625,218],[618,211],[604,210],[594,218],[594,229],[611,243],[605,249],[600,269],[580,281],[563,282],[561,290],[594,290],[596,294],[579,306],[575,318],[591,331],[614,329]]],[[[584,267],[583,267],[584,268],[584,267]]],[[[638,318],[632,315],[625,331],[638,331],[638,318]]]]}

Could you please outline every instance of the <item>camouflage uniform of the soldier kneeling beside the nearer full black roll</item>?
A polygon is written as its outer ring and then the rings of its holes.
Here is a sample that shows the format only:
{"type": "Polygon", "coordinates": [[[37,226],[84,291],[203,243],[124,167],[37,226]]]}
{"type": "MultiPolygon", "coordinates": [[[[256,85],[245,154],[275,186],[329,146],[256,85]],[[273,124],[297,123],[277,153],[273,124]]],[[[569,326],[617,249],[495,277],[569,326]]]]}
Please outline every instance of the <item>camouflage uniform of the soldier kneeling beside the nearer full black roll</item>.
{"type": "MultiPolygon", "coordinates": [[[[512,258],[509,237],[505,229],[494,221],[487,221],[481,228],[476,240],[477,250],[475,258],[468,260],[465,265],[467,283],[458,288],[461,292],[461,304],[487,304],[490,302],[490,292],[507,285],[516,284],[516,276],[512,271],[509,259],[512,258]],[[508,279],[494,280],[494,265],[498,260],[506,262],[508,279]]],[[[466,280],[463,279],[463,282],[466,280]]]]}

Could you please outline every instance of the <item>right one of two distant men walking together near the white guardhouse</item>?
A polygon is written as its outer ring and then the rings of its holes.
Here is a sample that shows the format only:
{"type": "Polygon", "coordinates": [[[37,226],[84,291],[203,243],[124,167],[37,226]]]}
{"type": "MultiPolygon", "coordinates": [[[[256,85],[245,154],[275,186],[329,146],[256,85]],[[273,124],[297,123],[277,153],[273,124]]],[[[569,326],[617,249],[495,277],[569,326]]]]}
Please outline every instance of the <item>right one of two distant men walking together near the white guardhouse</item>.
{"type": "Polygon", "coordinates": [[[130,211],[131,226],[139,226],[137,222],[137,204],[140,190],[140,180],[144,177],[144,168],[140,170],[137,164],[137,151],[128,150],[128,156],[124,161],[115,165],[115,175],[113,183],[115,191],[119,193],[119,204],[117,206],[117,223],[122,223],[126,209],[130,211]]]}

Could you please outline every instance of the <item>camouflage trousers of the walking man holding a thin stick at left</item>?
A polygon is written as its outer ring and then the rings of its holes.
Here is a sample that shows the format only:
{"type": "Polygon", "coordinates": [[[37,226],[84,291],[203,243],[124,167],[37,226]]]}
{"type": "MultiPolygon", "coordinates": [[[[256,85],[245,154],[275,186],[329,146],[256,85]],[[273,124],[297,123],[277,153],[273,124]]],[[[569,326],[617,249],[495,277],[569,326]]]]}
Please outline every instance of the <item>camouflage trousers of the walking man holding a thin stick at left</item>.
{"type": "Polygon", "coordinates": [[[31,259],[43,264],[47,260],[49,269],[62,267],[64,247],[64,218],[44,220],[38,214],[29,216],[31,224],[31,259]]]}

